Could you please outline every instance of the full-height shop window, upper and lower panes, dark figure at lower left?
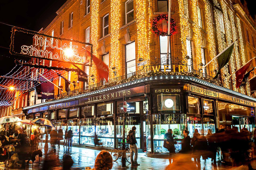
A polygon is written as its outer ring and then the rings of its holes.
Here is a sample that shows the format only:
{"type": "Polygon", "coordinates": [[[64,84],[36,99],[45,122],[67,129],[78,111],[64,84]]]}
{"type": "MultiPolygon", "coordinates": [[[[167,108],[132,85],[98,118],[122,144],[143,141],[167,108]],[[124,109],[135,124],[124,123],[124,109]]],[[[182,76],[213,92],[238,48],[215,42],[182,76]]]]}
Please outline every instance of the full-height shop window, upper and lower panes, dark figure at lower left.
{"type": "Polygon", "coordinates": [[[113,103],[98,104],[96,108],[96,146],[114,147],[113,103]]]}

